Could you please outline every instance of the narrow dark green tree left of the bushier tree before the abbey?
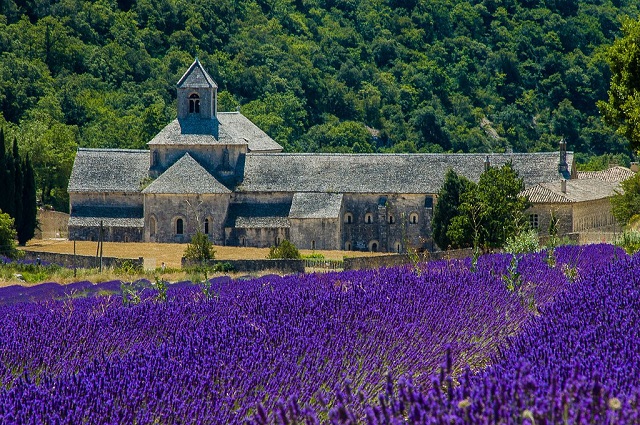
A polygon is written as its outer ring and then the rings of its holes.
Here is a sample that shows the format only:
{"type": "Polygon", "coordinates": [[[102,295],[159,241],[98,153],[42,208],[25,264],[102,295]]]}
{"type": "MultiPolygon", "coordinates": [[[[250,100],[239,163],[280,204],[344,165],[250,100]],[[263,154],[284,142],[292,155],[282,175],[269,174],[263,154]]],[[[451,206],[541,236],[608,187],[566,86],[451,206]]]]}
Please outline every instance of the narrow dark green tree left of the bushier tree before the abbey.
{"type": "Polygon", "coordinates": [[[438,202],[433,208],[433,240],[440,249],[454,247],[447,236],[451,220],[459,213],[462,195],[469,190],[472,182],[449,169],[444,177],[442,188],[438,192],[438,202]]]}

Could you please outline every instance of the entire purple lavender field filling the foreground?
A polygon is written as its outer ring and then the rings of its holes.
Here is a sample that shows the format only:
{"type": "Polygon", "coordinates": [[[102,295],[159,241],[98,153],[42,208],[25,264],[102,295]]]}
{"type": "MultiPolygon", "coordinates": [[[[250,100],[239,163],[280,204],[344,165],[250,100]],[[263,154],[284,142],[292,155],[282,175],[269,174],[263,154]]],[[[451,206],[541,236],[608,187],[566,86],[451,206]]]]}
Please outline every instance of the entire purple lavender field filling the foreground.
{"type": "Polygon", "coordinates": [[[640,423],[639,269],[591,245],[166,297],[7,292],[0,423],[640,423]]]}

